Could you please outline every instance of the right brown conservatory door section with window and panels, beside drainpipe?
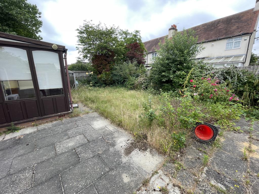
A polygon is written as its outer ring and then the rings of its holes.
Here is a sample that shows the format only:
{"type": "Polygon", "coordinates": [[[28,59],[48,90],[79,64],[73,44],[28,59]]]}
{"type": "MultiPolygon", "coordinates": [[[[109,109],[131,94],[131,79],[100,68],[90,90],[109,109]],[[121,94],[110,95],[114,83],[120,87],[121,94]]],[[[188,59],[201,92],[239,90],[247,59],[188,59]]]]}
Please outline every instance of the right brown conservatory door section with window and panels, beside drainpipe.
{"type": "MultiPolygon", "coordinates": [[[[33,50],[33,61],[39,85],[43,114],[69,111],[62,81],[60,55],[53,51],[33,50]]],[[[62,67],[64,68],[64,67],[62,67]]],[[[65,78],[63,78],[64,80],[65,78]]]]}

